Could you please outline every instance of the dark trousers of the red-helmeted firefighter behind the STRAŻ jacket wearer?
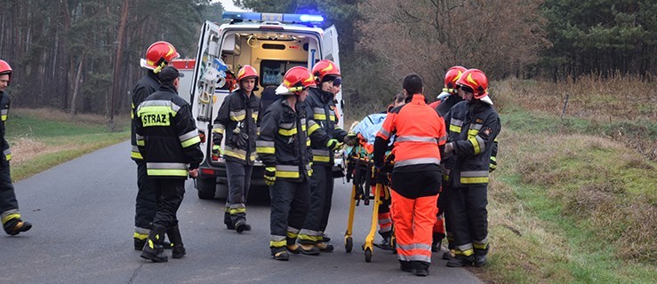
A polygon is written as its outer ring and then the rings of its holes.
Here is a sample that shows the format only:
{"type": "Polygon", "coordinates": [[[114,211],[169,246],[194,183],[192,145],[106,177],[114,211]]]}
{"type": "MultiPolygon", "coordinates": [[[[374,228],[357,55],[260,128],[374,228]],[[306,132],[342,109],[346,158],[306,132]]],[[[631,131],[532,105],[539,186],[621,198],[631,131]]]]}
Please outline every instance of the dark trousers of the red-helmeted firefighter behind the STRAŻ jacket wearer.
{"type": "Polygon", "coordinates": [[[134,208],[134,226],[137,233],[148,233],[157,211],[157,200],[153,179],[148,177],[146,162],[137,162],[137,201],[134,208]]]}

